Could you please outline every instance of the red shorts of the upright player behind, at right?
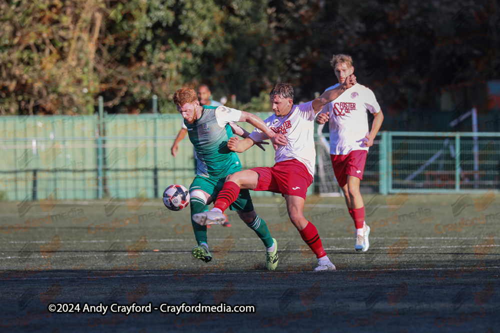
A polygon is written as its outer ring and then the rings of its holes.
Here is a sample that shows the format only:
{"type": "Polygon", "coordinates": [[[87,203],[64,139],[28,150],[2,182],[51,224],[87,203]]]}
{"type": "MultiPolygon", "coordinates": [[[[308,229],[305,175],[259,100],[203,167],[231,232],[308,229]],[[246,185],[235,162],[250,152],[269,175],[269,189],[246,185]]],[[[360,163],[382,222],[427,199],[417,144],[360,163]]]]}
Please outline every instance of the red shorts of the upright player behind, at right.
{"type": "Polygon", "coordinates": [[[347,155],[330,155],[333,172],[340,187],[347,184],[347,176],[363,179],[366,150],[353,150],[347,155]]]}

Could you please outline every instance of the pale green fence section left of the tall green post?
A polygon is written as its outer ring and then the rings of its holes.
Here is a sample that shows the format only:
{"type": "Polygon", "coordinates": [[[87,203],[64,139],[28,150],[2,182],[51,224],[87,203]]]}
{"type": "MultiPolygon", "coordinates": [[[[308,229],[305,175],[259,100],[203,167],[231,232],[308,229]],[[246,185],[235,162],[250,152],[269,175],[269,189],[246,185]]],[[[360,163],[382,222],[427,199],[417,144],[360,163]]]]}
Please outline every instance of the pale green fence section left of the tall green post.
{"type": "Polygon", "coordinates": [[[7,200],[92,198],[94,116],[1,117],[0,192],[7,200]]]}

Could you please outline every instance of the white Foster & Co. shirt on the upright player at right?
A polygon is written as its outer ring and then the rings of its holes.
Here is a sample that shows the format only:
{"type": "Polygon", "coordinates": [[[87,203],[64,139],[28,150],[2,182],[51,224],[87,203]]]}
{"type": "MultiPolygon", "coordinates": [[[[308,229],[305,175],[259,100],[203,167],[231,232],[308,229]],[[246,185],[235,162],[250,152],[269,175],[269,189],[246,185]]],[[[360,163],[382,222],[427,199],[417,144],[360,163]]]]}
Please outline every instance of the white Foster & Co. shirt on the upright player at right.
{"type": "MultiPolygon", "coordinates": [[[[332,85],[326,90],[338,85],[332,85]]],[[[326,91],[325,90],[325,91],[326,91]]],[[[353,150],[366,150],[364,137],[368,131],[368,115],[380,112],[373,92],[359,83],[345,90],[338,98],[329,102],[320,113],[329,112],[330,154],[347,155],[353,150]]]]}

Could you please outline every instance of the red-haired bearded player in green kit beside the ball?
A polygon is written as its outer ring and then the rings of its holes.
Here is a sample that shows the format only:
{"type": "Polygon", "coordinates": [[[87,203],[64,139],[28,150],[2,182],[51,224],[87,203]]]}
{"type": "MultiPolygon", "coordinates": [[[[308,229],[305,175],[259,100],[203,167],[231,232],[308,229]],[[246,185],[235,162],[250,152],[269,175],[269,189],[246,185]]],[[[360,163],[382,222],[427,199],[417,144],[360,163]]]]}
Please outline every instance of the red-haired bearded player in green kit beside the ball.
{"type": "MultiPolygon", "coordinates": [[[[231,123],[245,121],[264,132],[273,145],[286,145],[284,135],[274,133],[260,118],[226,106],[201,106],[196,92],[191,88],[180,88],[173,95],[173,102],[184,118],[187,135],[198,157],[197,171],[189,187],[191,216],[204,210],[205,205],[217,197],[224,185],[225,177],[241,170],[236,153],[227,148],[232,137],[231,123]]],[[[278,263],[276,240],[271,237],[267,225],[253,210],[250,193],[242,190],[230,206],[239,218],[252,229],[265,246],[266,266],[274,270],[278,263]]],[[[192,249],[193,257],[204,262],[212,260],[208,250],[206,226],[200,226],[191,218],[197,246],[192,249]]]]}

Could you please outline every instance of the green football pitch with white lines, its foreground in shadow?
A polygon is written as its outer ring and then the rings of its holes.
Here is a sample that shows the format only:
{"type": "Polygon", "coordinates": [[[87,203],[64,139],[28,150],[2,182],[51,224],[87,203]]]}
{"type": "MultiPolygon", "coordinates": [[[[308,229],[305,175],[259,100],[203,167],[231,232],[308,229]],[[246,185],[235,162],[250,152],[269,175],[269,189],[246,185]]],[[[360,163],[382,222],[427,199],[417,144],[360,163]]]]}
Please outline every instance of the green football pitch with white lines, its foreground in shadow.
{"type": "Polygon", "coordinates": [[[308,198],[336,272],[289,223],[279,196],[254,198],[278,242],[262,243],[229,213],[208,230],[210,263],[191,257],[189,209],[145,202],[0,203],[1,332],[494,332],[500,311],[494,194],[364,195],[370,249],[354,251],[343,198],[308,198]],[[472,205],[473,203],[473,205],[472,205]],[[252,314],[124,316],[49,313],[50,303],[159,307],[254,305],[252,314]]]}

